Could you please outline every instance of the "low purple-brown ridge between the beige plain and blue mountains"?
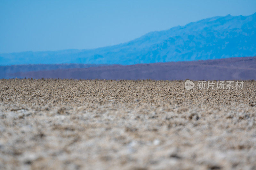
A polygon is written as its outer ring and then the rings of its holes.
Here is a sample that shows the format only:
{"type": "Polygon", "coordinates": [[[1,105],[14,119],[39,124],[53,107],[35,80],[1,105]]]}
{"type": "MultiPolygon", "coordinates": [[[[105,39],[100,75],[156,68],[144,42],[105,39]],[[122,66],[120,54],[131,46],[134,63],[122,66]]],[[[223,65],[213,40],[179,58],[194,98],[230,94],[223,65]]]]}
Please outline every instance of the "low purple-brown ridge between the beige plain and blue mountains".
{"type": "MultiPolygon", "coordinates": [[[[154,79],[154,80],[250,80],[256,79],[256,57],[233,57],[216,60],[167,62],[135,65],[33,65],[34,71],[16,70],[28,65],[4,66],[7,78],[72,78],[72,79],[154,79]],[[8,67],[12,69],[8,69],[8,67]],[[65,68],[66,67],[66,68],[65,68]],[[73,68],[72,68],[73,67],[73,68]]],[[[31,67],[31,66],[30,66],[31,67]]],[[[0,67],[1,70],[1,67],[0,67]]]]}

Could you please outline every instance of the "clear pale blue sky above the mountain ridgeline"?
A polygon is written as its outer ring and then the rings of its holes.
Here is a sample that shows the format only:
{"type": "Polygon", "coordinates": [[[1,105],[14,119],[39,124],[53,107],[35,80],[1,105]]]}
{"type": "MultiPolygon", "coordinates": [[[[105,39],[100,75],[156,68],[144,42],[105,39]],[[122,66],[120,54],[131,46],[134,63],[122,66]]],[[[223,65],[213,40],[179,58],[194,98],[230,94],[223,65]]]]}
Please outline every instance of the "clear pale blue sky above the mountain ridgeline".
{"type": "Polygon", "coordinates": [[[1,0],[0,53],[98,48],[204,18],[254,12],[256,0],[1,0]]]}

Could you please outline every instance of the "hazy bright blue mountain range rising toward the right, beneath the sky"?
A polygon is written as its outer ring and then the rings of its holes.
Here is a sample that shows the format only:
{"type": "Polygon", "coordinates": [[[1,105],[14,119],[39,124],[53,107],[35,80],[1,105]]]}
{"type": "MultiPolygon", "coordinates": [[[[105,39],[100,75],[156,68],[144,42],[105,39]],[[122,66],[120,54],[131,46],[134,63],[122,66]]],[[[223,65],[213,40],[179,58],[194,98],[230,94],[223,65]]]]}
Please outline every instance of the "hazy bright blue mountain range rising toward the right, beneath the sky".
{"type": "Polygon", "coordinates": [[[155,31],[127,43],[97,48],[0,54],[11,64],[137,64],[256,55],[256,13],[213,17],[155,31]]]}

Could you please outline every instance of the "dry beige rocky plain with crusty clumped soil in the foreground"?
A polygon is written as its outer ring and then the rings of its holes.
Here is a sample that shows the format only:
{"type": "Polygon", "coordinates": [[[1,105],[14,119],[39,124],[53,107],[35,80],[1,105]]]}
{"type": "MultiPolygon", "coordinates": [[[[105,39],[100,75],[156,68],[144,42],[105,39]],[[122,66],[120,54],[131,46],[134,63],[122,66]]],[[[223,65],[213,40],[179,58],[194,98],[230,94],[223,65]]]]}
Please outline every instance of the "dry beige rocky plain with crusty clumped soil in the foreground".
{"type": "Polygon", "coordinates": [[[1,79],[0,169],[256,169],[256,82],[1,79]]]}

